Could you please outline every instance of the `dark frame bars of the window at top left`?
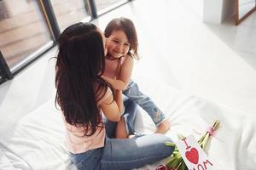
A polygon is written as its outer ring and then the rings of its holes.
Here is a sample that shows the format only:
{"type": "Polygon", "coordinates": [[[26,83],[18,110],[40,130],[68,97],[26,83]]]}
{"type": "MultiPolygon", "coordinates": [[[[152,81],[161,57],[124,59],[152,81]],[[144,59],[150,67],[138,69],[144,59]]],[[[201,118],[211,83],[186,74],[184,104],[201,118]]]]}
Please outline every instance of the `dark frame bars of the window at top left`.
{"type": "MultiPolygon", "coordinates": [[[[103,9],[100,11],[97,11],[96,9],[96,3],[95,0],[83,0],[85,4],[85,10],[89,10],[90,14],[90,21],[97,19],[102,14],[106,14],[110,11],[112,11],[115,8],[119,8],[120,6],[129,3],[133,0],[126,0],[124,3],[118,3],[113,4],[107,9],[103,9]]],[[[52,7],[52,4],[50,0],[39,0],[38,5],[41,9],[42,14],[44,14],[44,20],[45,23],[47,23],[47,26],[49,28],[49,32],[52,36],[52,41],[49,41],[48,43],[44,44],[41,48],[39,48],[37,51],[33,52],[32,54],[28,55],[26,59],[23,61],[20,61],[20,64],[18,66],[15,66],[15,68],[9,68],[9,65],[7,65],[3,54],[0,50],[0,84],[3,84],[3,82],[7,82],[15,77],[17,73],[22,71],[26,68],[26,66],[31,65],[33,61],[40,58],[43,54],[49,51],[49,49],[55,47],[56,40],[61,35],[60,27],[58,26],[58,22],[55,18],[55,13],[52,7]]]]}

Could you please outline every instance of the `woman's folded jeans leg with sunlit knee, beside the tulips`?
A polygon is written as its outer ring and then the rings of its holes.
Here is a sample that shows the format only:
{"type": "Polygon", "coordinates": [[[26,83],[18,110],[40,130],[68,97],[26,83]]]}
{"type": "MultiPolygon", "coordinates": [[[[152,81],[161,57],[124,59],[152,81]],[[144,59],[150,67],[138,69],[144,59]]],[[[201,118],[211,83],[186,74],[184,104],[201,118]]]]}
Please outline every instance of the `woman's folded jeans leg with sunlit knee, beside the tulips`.
{"type": "Polygon", "coordinates": [[[166,146],[171,139],[160,133],[132,139],[106,139],[101,169],[132,169],[171,156],[174,147],[166,146]]]}

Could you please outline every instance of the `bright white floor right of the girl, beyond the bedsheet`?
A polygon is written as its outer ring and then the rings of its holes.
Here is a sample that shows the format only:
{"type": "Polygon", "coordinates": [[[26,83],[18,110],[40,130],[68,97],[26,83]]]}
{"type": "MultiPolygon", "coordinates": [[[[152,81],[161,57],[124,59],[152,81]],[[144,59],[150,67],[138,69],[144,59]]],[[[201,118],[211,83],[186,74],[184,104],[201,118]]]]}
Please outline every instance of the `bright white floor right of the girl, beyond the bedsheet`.
{"type": "MultiPolygon", "coordinates": [[[[102,30],[127,16],[138,30],[142,59],[133,77],[256,114],[256,13],[240,26],[202,22],[203,1],[137,0],[96,20],[102,30]],[[125,14],[124,14],[125,13],[125,14]]],[[[147,83],[147,82],[146,82],[147,83]]]]}

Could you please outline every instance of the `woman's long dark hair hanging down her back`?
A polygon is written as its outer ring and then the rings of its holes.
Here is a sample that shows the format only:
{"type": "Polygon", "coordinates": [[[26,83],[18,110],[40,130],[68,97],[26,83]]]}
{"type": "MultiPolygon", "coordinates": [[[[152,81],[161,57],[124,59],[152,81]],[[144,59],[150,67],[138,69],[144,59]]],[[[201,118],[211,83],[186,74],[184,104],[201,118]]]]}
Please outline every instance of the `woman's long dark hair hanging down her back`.
{"type": "Polygon", "coordinates": [[[101,77],[105,70],[102,35],[95,25],[80,22],[61,33],[58,47],[55,105],[61,106],[67,123],[84,127],[84,135],[90,136],[102,127],[97,101],[110,87],[101,77]]]}

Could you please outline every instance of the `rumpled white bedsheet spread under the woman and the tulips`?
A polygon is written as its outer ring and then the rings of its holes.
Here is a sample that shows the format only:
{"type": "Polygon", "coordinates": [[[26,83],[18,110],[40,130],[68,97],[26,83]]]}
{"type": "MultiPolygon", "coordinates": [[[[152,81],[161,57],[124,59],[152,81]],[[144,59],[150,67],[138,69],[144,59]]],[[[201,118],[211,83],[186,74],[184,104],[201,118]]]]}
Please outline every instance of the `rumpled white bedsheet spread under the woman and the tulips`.
{"type": "MultiPolygon", "coordinates": [[[[148,88],[151,97],[172,122],[166,135],[177,140],[177,133],[199,138],[213,120],[221,123],[207,154],[219,169],[254,170],[256,167],[256,117],[217,105],[206,99],[186,96],[173,88],[148,88]],[[197,132],[195,132],[197,131],[197,132]],[[198,132],[201,132],[199,134],[198,132]]],[[[64,127],[54,101],[20,119],[15,128],[0,139],[0,169],[76,169],[64,148],[64,127]]],[[[137,115],[140,132],[152,133],[154,124],[142,110],[137,115]],[[142,123],[143,122],[143,123],[142,123]]],[[[139,169],[155,169],[160,162],[139,169]]]]}

